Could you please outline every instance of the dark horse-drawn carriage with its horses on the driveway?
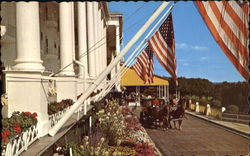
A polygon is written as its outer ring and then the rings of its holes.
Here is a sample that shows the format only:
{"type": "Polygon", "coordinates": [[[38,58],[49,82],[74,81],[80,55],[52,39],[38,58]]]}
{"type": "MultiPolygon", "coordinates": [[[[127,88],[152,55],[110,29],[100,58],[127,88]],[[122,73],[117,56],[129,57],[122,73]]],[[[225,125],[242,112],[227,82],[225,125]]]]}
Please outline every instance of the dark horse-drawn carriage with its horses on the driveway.
{"type": "Polygon", "coordinates": [[[171,122],[179,122],[179,128],[185,113],[185,103],[171,105],[165,99],[142,99],[140,122],[146,128],[171,128],[171,122]]]}

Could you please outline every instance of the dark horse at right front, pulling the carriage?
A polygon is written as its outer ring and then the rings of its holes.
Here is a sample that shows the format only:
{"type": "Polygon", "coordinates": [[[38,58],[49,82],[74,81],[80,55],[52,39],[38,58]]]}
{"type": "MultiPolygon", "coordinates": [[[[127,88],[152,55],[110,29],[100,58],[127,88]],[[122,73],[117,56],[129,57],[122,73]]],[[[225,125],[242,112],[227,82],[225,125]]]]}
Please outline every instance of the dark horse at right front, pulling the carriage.
{"type": "MultiPolygon", "coordinates": [[[[185,110],[186,110],[186,102],[180,101],[180,103],[177,106],[177,109],[170,111],[169,113],[169,122],[173,120],[175,128],[177,128],[176,122],[178,122],[179,130],[181,130],[183,118],[187,119],[187,117],[185,116],[185,110]]],[[[170,124],[170,127],[171,127],[171,124],[170,124]]]]}

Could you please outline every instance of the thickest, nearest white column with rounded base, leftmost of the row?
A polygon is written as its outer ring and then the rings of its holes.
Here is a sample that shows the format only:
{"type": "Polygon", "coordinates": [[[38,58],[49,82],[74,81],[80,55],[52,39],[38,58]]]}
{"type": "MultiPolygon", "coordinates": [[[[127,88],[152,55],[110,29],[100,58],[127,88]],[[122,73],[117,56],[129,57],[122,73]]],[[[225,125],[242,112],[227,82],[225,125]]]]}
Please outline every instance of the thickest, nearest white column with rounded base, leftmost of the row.
{"type": "Polygon", "coordinates": [[[17,59],[15,70],[43,71],[40,58],[40,26],[38,2],[16,3],[17,59]]]}

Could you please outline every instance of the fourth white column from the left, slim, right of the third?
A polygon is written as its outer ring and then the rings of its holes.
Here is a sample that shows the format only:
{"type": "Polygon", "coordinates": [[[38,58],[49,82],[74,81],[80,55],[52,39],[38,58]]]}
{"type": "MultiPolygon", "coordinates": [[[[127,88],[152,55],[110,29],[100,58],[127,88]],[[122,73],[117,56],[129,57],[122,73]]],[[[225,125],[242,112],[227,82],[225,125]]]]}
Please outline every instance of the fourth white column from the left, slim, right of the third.
{"type": "Polygon", "coordinates": [[[87,29],[88,29],[88,55],[89,55],[89,77],[95,76],[95,53],[91,51],[94,46],[94,16],[93,2],[87,2],[87,29]]]}

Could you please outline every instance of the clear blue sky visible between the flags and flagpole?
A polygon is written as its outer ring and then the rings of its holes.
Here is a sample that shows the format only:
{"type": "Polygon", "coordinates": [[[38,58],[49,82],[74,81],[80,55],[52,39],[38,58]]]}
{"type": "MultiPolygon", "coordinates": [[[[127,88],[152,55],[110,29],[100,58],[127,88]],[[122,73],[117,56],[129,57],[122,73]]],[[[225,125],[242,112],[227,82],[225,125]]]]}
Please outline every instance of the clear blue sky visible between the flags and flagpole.
{"type": "MultiPolygon", "coordinates": [[[[109,2],[109,10],[123,14],[124,47],[162,2],[109,2]],[[134,11],[139,9],[135,14],[134,11]]],[[[167,6],[167,8],[170,5],[167,6]]],[[[165,9],[165,11],[167,10],[165,9]]],[[[244,81],[220,49],[193,2],[178,2],[173,10],[176,42],[177,75],[187,78],[205,78],[212,82],[244,81]]],[[[159,18],[158,18],[159,19],[159,18]]],[[[156,20],[157,21],[157,20],[156,20]]],[[[150,27],[152,28],[152,26],[150,27]]],[[[148,29],[148,31],[150,30],[148,29]]],[[[148,32],[146,31],[146,33],[148,32]]],[[[146,33],[143,35],[145,37],[146,33]]],[[[125,60],[131,51],[126,54],[125,60]]],[[[155,74],[169,76],[155,58],[155,74]]]]}

